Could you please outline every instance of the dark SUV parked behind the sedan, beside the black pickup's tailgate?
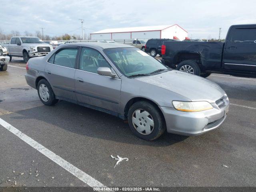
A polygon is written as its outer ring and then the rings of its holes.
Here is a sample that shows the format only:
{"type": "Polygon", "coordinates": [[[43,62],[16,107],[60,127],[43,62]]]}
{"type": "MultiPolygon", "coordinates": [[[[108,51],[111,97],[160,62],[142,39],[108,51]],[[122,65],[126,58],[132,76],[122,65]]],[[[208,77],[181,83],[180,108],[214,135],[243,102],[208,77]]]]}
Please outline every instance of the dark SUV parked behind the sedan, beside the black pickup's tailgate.
{"type": "Polygon", "coordinates": [[[155,57],[157,54],[161,55],[162,44],[164,41],[177,41],[174,39],[149,39],[145,45],[145,52],[150,53],[155,57]]]}

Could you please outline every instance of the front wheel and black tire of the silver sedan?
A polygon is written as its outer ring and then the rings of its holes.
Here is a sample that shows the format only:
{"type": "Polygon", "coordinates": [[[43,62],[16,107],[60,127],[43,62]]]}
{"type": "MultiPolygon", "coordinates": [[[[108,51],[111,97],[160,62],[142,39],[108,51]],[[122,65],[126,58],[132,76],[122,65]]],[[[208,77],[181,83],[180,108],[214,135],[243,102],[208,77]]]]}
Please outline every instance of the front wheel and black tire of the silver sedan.
{"type": "Polygon", "coordinates": [[[166,130],[159,108],[146,101],[134,103],[128,111],[128,123],[132,132],[144,140],[155,140],[166,130]]]}

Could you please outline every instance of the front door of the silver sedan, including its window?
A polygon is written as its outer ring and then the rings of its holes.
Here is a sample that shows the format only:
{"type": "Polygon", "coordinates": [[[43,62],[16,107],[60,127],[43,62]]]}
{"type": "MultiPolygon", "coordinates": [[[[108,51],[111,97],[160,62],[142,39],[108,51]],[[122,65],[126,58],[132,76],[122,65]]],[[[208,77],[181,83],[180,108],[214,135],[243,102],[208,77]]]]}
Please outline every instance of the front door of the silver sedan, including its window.
{"type": "Polygon", "coordinates": [[[83,47],[79,66],[75,73],[78,103],[119,114],[121,79],[99,75],[98,67],[112,69],[98,50],[83,47]]]}

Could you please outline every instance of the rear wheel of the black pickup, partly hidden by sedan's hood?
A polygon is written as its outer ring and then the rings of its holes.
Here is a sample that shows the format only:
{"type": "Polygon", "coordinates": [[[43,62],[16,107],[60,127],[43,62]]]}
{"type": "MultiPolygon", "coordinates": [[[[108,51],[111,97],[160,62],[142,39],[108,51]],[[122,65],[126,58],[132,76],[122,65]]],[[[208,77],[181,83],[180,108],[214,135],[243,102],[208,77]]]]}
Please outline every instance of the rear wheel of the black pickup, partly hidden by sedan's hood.
{"type": "Polygon", "coordinates": [[[199,65],[192,60],[184,60],[180,62],[180,64],[178,64],[178,66],[176,67],[176,70],[198,76],[200,76],[201,74],[199,65]]]}

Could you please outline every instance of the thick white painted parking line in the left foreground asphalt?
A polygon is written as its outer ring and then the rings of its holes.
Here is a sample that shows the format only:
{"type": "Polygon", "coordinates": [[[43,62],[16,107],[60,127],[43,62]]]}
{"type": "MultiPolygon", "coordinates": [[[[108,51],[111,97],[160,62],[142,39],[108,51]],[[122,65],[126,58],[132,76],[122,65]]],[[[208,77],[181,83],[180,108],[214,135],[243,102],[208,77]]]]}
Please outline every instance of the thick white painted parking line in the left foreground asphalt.
{"type": "Polygon", "coordinates": [[[89,185],[90,187],[106,187],[96,179],[92,178],[90,175],[86,174],[82,170],[78,169],[74,165],[70,164],[66,160],[62,159],[60,156],[56,155],[54,152],[48,150],[26,134],[22,133],[20,130],[16,129],[14,126],[10,125],[8,122],[0,118],[0,125],[12,132],[14,135],[18,136],[21,140],[32,146],[34,149],[38,150],[40,153],[48,157],[50,160],[66,169],[68,172],[76,176],[78,179],[89,185]]]}

